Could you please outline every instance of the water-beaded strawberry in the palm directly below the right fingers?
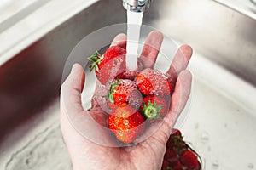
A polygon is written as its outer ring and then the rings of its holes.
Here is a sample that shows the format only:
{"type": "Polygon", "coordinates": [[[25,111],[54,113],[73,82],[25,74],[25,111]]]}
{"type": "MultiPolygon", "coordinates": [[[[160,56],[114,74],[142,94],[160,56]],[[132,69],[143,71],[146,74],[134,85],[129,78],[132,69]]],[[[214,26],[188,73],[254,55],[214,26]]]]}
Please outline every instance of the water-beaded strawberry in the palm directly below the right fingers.
{"type": "Polygon", "coordinates": [[[144,95],[170,95],[173,91],[166,75],[150,68],[141,71],[136,77],[136,82],[144,95]]]}

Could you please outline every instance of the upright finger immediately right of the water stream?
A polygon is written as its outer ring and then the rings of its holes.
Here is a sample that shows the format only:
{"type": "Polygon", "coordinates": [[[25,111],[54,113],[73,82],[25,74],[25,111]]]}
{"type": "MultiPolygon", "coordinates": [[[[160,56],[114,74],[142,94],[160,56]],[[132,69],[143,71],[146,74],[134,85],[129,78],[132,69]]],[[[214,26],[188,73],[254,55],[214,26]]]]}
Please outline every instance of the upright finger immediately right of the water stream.
{"type": "Polygon", "coordinates": [[[163,34],[160,31],[151,31],[148,34],[143,52],[140,56],[144,68],[154,68],[154,63],[159,54],[163,38],[163,34]]]}

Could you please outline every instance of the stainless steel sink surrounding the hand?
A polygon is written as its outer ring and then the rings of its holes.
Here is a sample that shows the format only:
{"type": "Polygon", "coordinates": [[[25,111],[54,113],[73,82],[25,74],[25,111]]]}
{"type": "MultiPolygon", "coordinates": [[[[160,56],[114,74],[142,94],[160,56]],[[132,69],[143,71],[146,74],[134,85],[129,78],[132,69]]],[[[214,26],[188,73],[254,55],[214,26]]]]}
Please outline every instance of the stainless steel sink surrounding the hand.
{"type": "MultiPolygon", "coordinates": [[[[65,62],[83,37],[125,20],[119,0],[94,1],[26,47],[15,43],[19,52],[1,54],[13,55],[0,63],[0,169],[71,169],[58,120],[65,62]]],[[[195,50],[181,129],[206,169],[255,167],[256,20],[215,1],[158,0],[143,24],[195,50]]]]}

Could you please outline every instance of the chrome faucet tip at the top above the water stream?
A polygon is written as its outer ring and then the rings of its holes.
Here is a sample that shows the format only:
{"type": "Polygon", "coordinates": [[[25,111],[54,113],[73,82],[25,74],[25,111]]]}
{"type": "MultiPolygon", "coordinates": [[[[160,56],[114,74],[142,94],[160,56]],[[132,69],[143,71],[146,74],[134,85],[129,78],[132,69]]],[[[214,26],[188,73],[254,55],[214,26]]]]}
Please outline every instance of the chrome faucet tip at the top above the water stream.
{"type": "Polygon", "coordinates": [[[123,6],[132,12],[144,12],[148,10],[151,1],[153,0],[123,0],[123,6]]]}

